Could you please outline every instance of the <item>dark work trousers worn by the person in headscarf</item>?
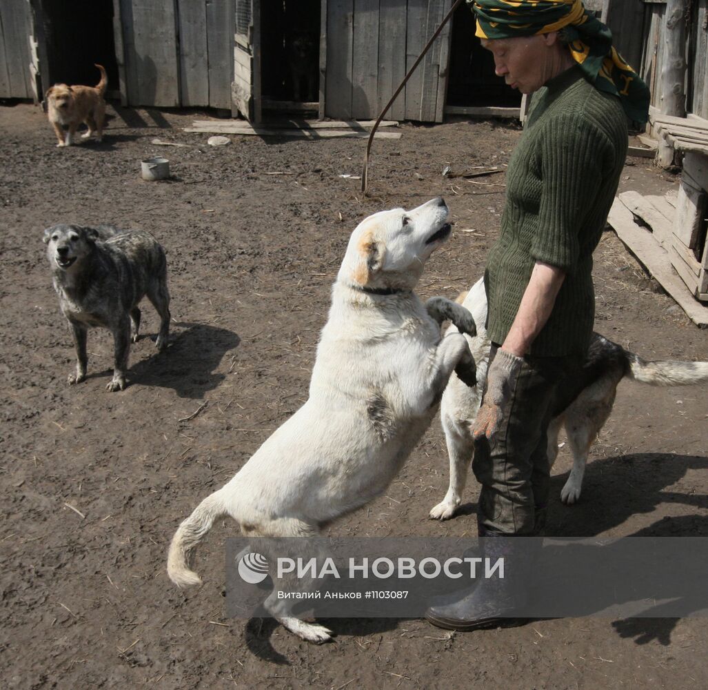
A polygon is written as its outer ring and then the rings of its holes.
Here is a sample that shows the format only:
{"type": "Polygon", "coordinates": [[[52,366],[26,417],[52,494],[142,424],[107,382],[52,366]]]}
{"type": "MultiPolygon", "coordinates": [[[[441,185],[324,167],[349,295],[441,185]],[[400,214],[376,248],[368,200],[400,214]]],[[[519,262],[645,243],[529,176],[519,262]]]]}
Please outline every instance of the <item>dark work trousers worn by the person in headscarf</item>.
{"type": "MultiPolygon", "coordinates": [[[[489,362],[496,355],[493,344],[489,362]]],[[[481,532],[536,535],[542,532],[551,483],[548,426],[559,410],[556,391],[580,370],[583,357],[525,356],[511,382],[493,439],[474,444],[472,470],[481,484],[477,521],[481,532]]],[[[486,387],[482,400],[486,395],[486,387]]]]}

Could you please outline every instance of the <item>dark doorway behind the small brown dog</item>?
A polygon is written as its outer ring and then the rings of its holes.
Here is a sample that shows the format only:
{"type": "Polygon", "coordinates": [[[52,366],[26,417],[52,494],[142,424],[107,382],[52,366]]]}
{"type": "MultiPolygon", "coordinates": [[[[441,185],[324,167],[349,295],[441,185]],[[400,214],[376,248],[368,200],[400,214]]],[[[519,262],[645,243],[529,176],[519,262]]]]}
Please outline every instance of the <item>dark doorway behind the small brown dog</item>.
{"type": "Polygon", "coordinates": [[[42,77],[48,74],[49,83],[42,89],[59,83],[96,86],[101,74],[93,65],[98,63],[108,73],[108,89],[117,91],[113,0],[40,0],[33,5],[46,50],[42,77]]]}

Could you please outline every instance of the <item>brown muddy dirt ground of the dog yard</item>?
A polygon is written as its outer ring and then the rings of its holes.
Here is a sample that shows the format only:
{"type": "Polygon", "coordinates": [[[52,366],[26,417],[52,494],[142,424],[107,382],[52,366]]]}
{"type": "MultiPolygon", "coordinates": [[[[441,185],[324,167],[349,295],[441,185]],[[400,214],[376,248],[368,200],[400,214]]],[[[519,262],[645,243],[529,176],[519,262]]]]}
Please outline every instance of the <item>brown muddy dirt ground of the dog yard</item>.
{"type": "MultiPolygon", "coordinates": [[[[442,195],[452,239],[419,293],[455,296],[481,276],[498,230],[503,175],[441,171],[503,164],[520,136],[503,123],[401,128],[377,140],[370,198],[363,140],[189,134],[198,113],[111,108],[102,144],[57,149],[45,115],[0,107],[1,630],[4,688],[692,688],[708,684],[704,618],[578,618],[449,635],[421,620],[332,620],[317,647],[271,621],[224,618],[219,523],[198,550],[205,585],[180,592],[165,557],[177,524],[222,485],[304,402],[329,290],[362,217],[442,195]],[[187,147],[152,145],[154,137],[187,147]],[[173,179],[139,178],[171,160],[173,179]],[[57,222],[142,227],[168,251],[171,346],[143,310],[130,386],[108,393],[112,341],[89,334],[89,378],[69,388],[74,354],[52,290],[42,230],[57,222]],[[199,414],[190,417],[202,404],[199,414]]],[[[629,159],[622,188],[678,186],[629,159]]],[[[595,254],[596,328],[645,358],[708,360],[708,334],[657,288],[612,232],[595,254]]],[[[569,471],[554,467],[554,536],[708,536],[708,389],[624,382],[593,447],[581,502],[561,504],[569,471]]],[[[331,526],[332,535],[474,533],[464,514],[426,519],[445,493],[438,422],[386,496],[331,526]]]]}

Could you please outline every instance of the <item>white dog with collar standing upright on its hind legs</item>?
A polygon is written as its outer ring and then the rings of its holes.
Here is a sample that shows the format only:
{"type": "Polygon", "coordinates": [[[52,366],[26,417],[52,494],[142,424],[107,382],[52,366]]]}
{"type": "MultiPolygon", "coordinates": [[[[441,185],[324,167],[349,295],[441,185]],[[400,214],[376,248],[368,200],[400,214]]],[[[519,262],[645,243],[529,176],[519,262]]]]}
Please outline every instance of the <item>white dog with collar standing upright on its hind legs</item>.
{"type": "MultiPolygon", "coordinates": [[[[447,213],[438,198],[376,213],[354,230],[307,402],[179,526],[167,563],[173,582],[200,582],[188,555],[219,516],[232,516],[246,536],[317,536],[323,524],[370,502],[428,428],[452,371],[474,385],[464,336],[440,336],[445,318],[474,335],[471,315],[444,298],[423,305],[413,293],[450,234],[447,213]]],[[[330,630],[295,618],[292,603],[274,594],[265,609],[285,628],[312,642],[330,639],[330,630]]]]}

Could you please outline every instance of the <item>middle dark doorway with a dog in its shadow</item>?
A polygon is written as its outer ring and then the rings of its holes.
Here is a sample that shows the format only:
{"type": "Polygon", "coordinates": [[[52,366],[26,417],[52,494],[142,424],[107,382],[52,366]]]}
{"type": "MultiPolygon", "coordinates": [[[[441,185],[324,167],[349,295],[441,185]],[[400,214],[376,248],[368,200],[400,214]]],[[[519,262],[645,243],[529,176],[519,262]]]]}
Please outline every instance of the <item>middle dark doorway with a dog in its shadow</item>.
{"type": "Polygon", "coordinates": [[[320,0],[263,0],[261,89],[269,101],[319,101],[320,0]]]}

